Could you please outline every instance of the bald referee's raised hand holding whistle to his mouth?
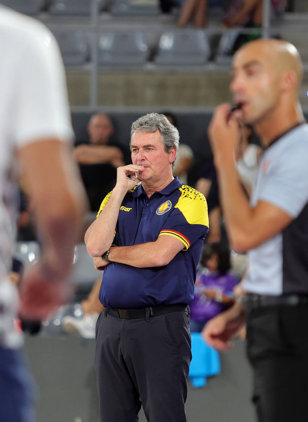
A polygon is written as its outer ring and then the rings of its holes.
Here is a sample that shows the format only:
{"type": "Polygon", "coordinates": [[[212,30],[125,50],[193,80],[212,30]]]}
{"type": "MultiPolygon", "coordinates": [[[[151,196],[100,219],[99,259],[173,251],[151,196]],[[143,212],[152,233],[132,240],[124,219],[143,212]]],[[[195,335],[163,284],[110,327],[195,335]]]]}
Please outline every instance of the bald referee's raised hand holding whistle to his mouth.
{"type": "Polygon", "coordinates": [[[239,139],[238,121],[236,117],[241,111],[230,115],[231,106],[223,103],[218,106],[209,124],[208,134],[216,165],[234,160],[234,150],[239,139]]]}

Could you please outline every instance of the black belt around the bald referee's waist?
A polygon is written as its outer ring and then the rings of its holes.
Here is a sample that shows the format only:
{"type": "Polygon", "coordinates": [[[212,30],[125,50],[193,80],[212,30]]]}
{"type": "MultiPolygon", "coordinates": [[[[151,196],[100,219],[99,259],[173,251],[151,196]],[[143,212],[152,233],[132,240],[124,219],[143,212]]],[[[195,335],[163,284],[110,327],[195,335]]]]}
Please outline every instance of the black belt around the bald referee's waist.
{"type": "Polygon", "coordinates": [[[267,306],[298,306],[308,305],[308,295],[290,294],[283,296],[257,295],[247,293],[243,298],[244,308],[249,311],[267,306]]]}

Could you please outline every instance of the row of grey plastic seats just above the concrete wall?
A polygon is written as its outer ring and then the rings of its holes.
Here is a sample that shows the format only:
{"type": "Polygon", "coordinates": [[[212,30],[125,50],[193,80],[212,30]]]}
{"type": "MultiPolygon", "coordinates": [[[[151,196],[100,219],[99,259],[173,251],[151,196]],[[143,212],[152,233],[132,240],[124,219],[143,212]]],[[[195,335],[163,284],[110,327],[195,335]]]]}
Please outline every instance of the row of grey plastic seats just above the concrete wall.
{"type": "MultiPolygon", "coordinates": [[[[214,58],[220,65],[229,65],[232,47],[239,30],[226,31],[214,58]]],[[[86,34],[81,30],[54,31],[65,65],[84,65],[91,61],[86,34]]],[[[118,30],[100,32],[98,63],[100,66],[142,66],[152,61],[156,65],[206,65],[211,57],[208,37],[203,30],[169,30],[161,34],[159,43],[148,46],[140,31],[118,30]]]]}

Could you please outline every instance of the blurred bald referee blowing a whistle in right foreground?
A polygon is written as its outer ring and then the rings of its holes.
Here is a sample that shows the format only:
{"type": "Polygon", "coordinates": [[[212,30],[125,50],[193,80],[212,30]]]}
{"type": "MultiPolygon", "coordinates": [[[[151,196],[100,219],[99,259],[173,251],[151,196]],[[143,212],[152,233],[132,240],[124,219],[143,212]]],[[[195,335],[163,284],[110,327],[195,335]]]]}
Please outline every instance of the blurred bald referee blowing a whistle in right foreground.
{"type": "Polygon", "coordinates": [[[214,112],[209,127],[230,243],[247,252],[248,292],[203,330],[217,349],[247,321],[259,422],[304,422],[308,415],[308,125],[298,100],[303,67],[295,46],[247,43],[233,59],[230,89],[240,107],[214,112]],[[233,152],[238,122],[253,124],[264,153],[250,203],[233,152]]]}

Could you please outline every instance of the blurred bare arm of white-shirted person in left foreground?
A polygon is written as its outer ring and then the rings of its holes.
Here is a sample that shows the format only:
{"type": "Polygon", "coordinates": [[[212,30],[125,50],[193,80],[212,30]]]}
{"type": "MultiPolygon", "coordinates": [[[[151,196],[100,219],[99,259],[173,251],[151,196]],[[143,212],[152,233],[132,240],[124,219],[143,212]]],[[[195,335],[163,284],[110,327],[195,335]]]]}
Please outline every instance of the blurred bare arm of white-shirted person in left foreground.
{"type": "Polygon", "coordinates": [[[72,266],[87,200],[66,143],[38,140],[19,150],[42,239],[38,265],[26,277],[21,312],[44,318],[63,303],[59,286],[72,266]]]}

